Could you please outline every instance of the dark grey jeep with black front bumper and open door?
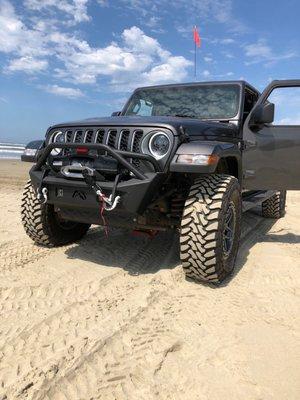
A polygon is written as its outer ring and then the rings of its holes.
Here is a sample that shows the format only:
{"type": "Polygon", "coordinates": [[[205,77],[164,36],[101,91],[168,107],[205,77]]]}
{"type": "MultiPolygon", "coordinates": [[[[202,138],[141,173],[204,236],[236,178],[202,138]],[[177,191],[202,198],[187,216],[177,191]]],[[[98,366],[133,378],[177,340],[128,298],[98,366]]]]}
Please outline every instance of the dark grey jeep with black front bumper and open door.
{"type": "Polygon", "coordinates": [[[272,125],[270,93],[244,81],[139,88],[121,112],[50,127],[22,200],[38,244],[80,239],[91,224],[180,230],[188,277],[220,282],[238,251],[241,215],[285,212],[298,189],[300,133],[272,125]]]}

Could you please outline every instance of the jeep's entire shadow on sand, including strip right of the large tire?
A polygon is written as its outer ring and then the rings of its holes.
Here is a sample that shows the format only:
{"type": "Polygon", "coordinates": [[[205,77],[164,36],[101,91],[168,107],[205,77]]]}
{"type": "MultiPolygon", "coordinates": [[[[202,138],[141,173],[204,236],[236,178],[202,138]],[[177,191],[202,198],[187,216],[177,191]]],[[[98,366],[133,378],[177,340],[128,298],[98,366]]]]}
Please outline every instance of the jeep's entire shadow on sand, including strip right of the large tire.
{"type": "MultiPolygon", "coordinates": [[[[251,248],[261,242],[300,243],[300,236],[273,231],[276,220],[261,217],[259,211],[243,216],[242,237],[236,266],[218,288],[227,286],[245,265],[251,248]]],[[[180,265],[179,234],[162,232],[155,237],[135,236],[124,229],[113,229],[106,237],[102,228],[92,228],[88,235],[66,249],[68,258],[81,259],[100,267],[123,268],[130,275],[155,273],[180,265]]]]}

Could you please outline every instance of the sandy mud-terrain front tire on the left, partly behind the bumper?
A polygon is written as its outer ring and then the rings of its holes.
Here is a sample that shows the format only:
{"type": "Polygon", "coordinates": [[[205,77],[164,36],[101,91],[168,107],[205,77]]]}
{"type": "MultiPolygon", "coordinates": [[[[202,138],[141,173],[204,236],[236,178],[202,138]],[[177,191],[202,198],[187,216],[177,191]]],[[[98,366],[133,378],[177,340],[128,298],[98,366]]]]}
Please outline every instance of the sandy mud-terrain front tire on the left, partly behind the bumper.
{"type": "Polygon", "coordinates": [[[26,234],[37,244],[63,246],[81,239],[90,225],[62,220],[51,204],[41,204],[31,182],[24,188],[21,202],[22,223],[26,234]]]}

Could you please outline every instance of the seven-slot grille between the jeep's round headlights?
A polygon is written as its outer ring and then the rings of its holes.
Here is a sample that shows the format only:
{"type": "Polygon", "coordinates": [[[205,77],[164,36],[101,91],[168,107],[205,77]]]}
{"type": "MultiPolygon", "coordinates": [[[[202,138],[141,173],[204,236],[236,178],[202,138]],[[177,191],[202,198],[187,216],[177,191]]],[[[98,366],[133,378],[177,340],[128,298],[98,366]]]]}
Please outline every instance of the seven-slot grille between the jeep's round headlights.
{"type": "Polygon", "coordinates": [[[142,129],[120,128],[88,128],[67,129],[65,131],[66,143],[99,143],[106,144],[116,150],[141,153],[141,142],[144,136],[142,129]]]}

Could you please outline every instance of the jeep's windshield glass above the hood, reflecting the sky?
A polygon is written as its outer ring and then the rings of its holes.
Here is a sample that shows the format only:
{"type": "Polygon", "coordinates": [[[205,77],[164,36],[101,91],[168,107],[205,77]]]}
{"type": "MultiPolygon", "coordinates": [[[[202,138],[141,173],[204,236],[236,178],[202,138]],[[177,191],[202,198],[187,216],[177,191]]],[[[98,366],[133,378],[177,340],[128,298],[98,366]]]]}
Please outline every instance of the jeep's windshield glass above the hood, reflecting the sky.
{"type": "Polygon", "coordinates": [[[238,85],[194,85],[146,88],[131,97],[123,115],[230,119],[237,115],[238,85]]]}

